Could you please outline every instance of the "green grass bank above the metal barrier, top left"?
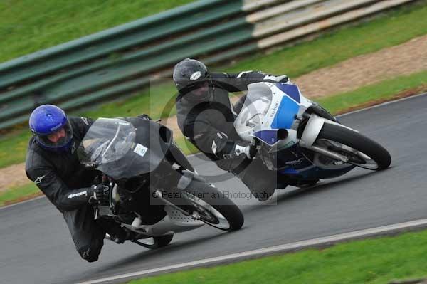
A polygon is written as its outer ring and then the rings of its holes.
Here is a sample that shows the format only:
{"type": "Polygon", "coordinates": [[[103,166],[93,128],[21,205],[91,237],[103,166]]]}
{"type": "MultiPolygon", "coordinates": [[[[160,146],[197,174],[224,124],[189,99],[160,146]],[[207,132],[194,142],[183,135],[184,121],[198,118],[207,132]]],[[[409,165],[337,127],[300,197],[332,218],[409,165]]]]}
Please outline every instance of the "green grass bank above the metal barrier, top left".
{"type": "Polygon", "coordinates": [[[191,0],[3,0],[0,62],[56,46],[191,0]]]}

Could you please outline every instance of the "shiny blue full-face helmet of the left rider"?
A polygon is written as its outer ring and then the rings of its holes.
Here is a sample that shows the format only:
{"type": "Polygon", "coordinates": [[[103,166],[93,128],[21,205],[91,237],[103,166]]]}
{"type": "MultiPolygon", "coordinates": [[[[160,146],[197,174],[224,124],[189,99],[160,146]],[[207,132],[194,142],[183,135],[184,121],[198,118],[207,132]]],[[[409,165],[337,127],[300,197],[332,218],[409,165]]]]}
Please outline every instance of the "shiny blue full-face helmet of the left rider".
{"type": "Polygon", "coordinates": [[[67,115],[56,105],[41,105],[30,116],[30,130],[41,147],[58,152],[70,149],[73,127],[67,115]]]}

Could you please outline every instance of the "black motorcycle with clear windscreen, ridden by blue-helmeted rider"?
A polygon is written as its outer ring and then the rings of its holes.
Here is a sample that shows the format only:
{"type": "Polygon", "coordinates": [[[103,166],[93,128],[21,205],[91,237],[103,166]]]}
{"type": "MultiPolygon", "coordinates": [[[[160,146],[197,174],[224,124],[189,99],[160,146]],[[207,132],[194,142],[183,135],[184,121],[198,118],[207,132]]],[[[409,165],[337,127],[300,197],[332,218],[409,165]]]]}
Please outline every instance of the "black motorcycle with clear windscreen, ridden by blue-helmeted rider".
{"type": "Polygon", "coordinates": [[[80,143],[78,157],[102,172],[110,194],[108,204],[95,206],[95,219],[120,223],[141,246],[167,246],[174,233],[205,223],[223,231],[243,225],[238,206],[196,174],[173,142],[172,131],[157,122],[97,119],[80,143]]]}

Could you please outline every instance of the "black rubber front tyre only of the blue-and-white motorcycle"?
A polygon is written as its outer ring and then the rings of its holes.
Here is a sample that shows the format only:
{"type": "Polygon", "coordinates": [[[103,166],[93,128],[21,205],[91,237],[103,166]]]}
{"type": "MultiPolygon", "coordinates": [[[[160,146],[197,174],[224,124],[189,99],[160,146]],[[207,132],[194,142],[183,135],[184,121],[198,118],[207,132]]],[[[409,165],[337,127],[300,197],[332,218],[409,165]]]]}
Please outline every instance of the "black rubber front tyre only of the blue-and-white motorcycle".
{"type": "Polygon", "coordinates": [[[350,162],[351,164],[357,165],[357,167],[378,171],[381,169],[386,169],[391,164],[390,154],[386,149],[384,149],[384,147],[375,141],[370,140],[368,137],[365,137],[364,135],[361,135],[353,130],[349,130],[345,127],[325,123],[317,137],[317,140],[319,139],[339,142],[348,147],[351,147],[352,149],[362,152],[370,159],[374,160],[378,166],[376,169],[373,169],[370,167],[364,167],[363,164],[360,163],[350,162]]]}

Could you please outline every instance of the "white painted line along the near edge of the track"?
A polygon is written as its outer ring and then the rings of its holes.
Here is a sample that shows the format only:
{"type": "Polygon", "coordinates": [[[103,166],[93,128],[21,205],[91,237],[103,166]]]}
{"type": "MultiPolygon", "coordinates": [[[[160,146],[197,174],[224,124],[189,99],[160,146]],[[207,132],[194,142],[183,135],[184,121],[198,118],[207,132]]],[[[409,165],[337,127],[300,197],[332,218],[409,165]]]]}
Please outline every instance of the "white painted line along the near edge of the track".
{"type": "Polygon", "coordinates": [[[315,247],[315,246],[325,246],[331,243],[337,243],[339,241],[347,241],[353,238],[366,238],[369,236],[376,236],[396,231],[404,231],[410,228],[424,227],[427,226],[427,219],[421,219],[416,221],[409,221],[405,223],[396,223],[394,225],[381,226],[376,228],[368,228],[359,231],[352,231],[349,233],[340,233],[337,235],[322,237],[322,238],[313,238],[306,241],[297,241],[295,243],[286,243],[280,246],[271,246],[268,248],[260,248],[253,251],[244,251],[241,253],[232,253],[226,256],[218,256],[216,258],[205,258],[199,261],[190,261],[187,263],[178,263],[174,265],[168,265],[161,268],[152,268],[148,270],[140,270],[133,273],[125,273],[121,275],[115,275],[112,277],[101,278],[97,280],[89,280],[85,282],[80,282],[77,284],[95,284],[95,283],[105,283],[107,281],[120,280],[123,278],[135,278],[137,276],[149,275],[153,273],[165,273],[171,270],[179,270],[182,268],[195,268],[202,265],[213,265],[217,263],[224,262],[233,262],[239,261],[245,258],[253,258],[259,256],[265,256],[273,253],[284,253],[287,251],[295,251],[301,248],[315,247]]]}

